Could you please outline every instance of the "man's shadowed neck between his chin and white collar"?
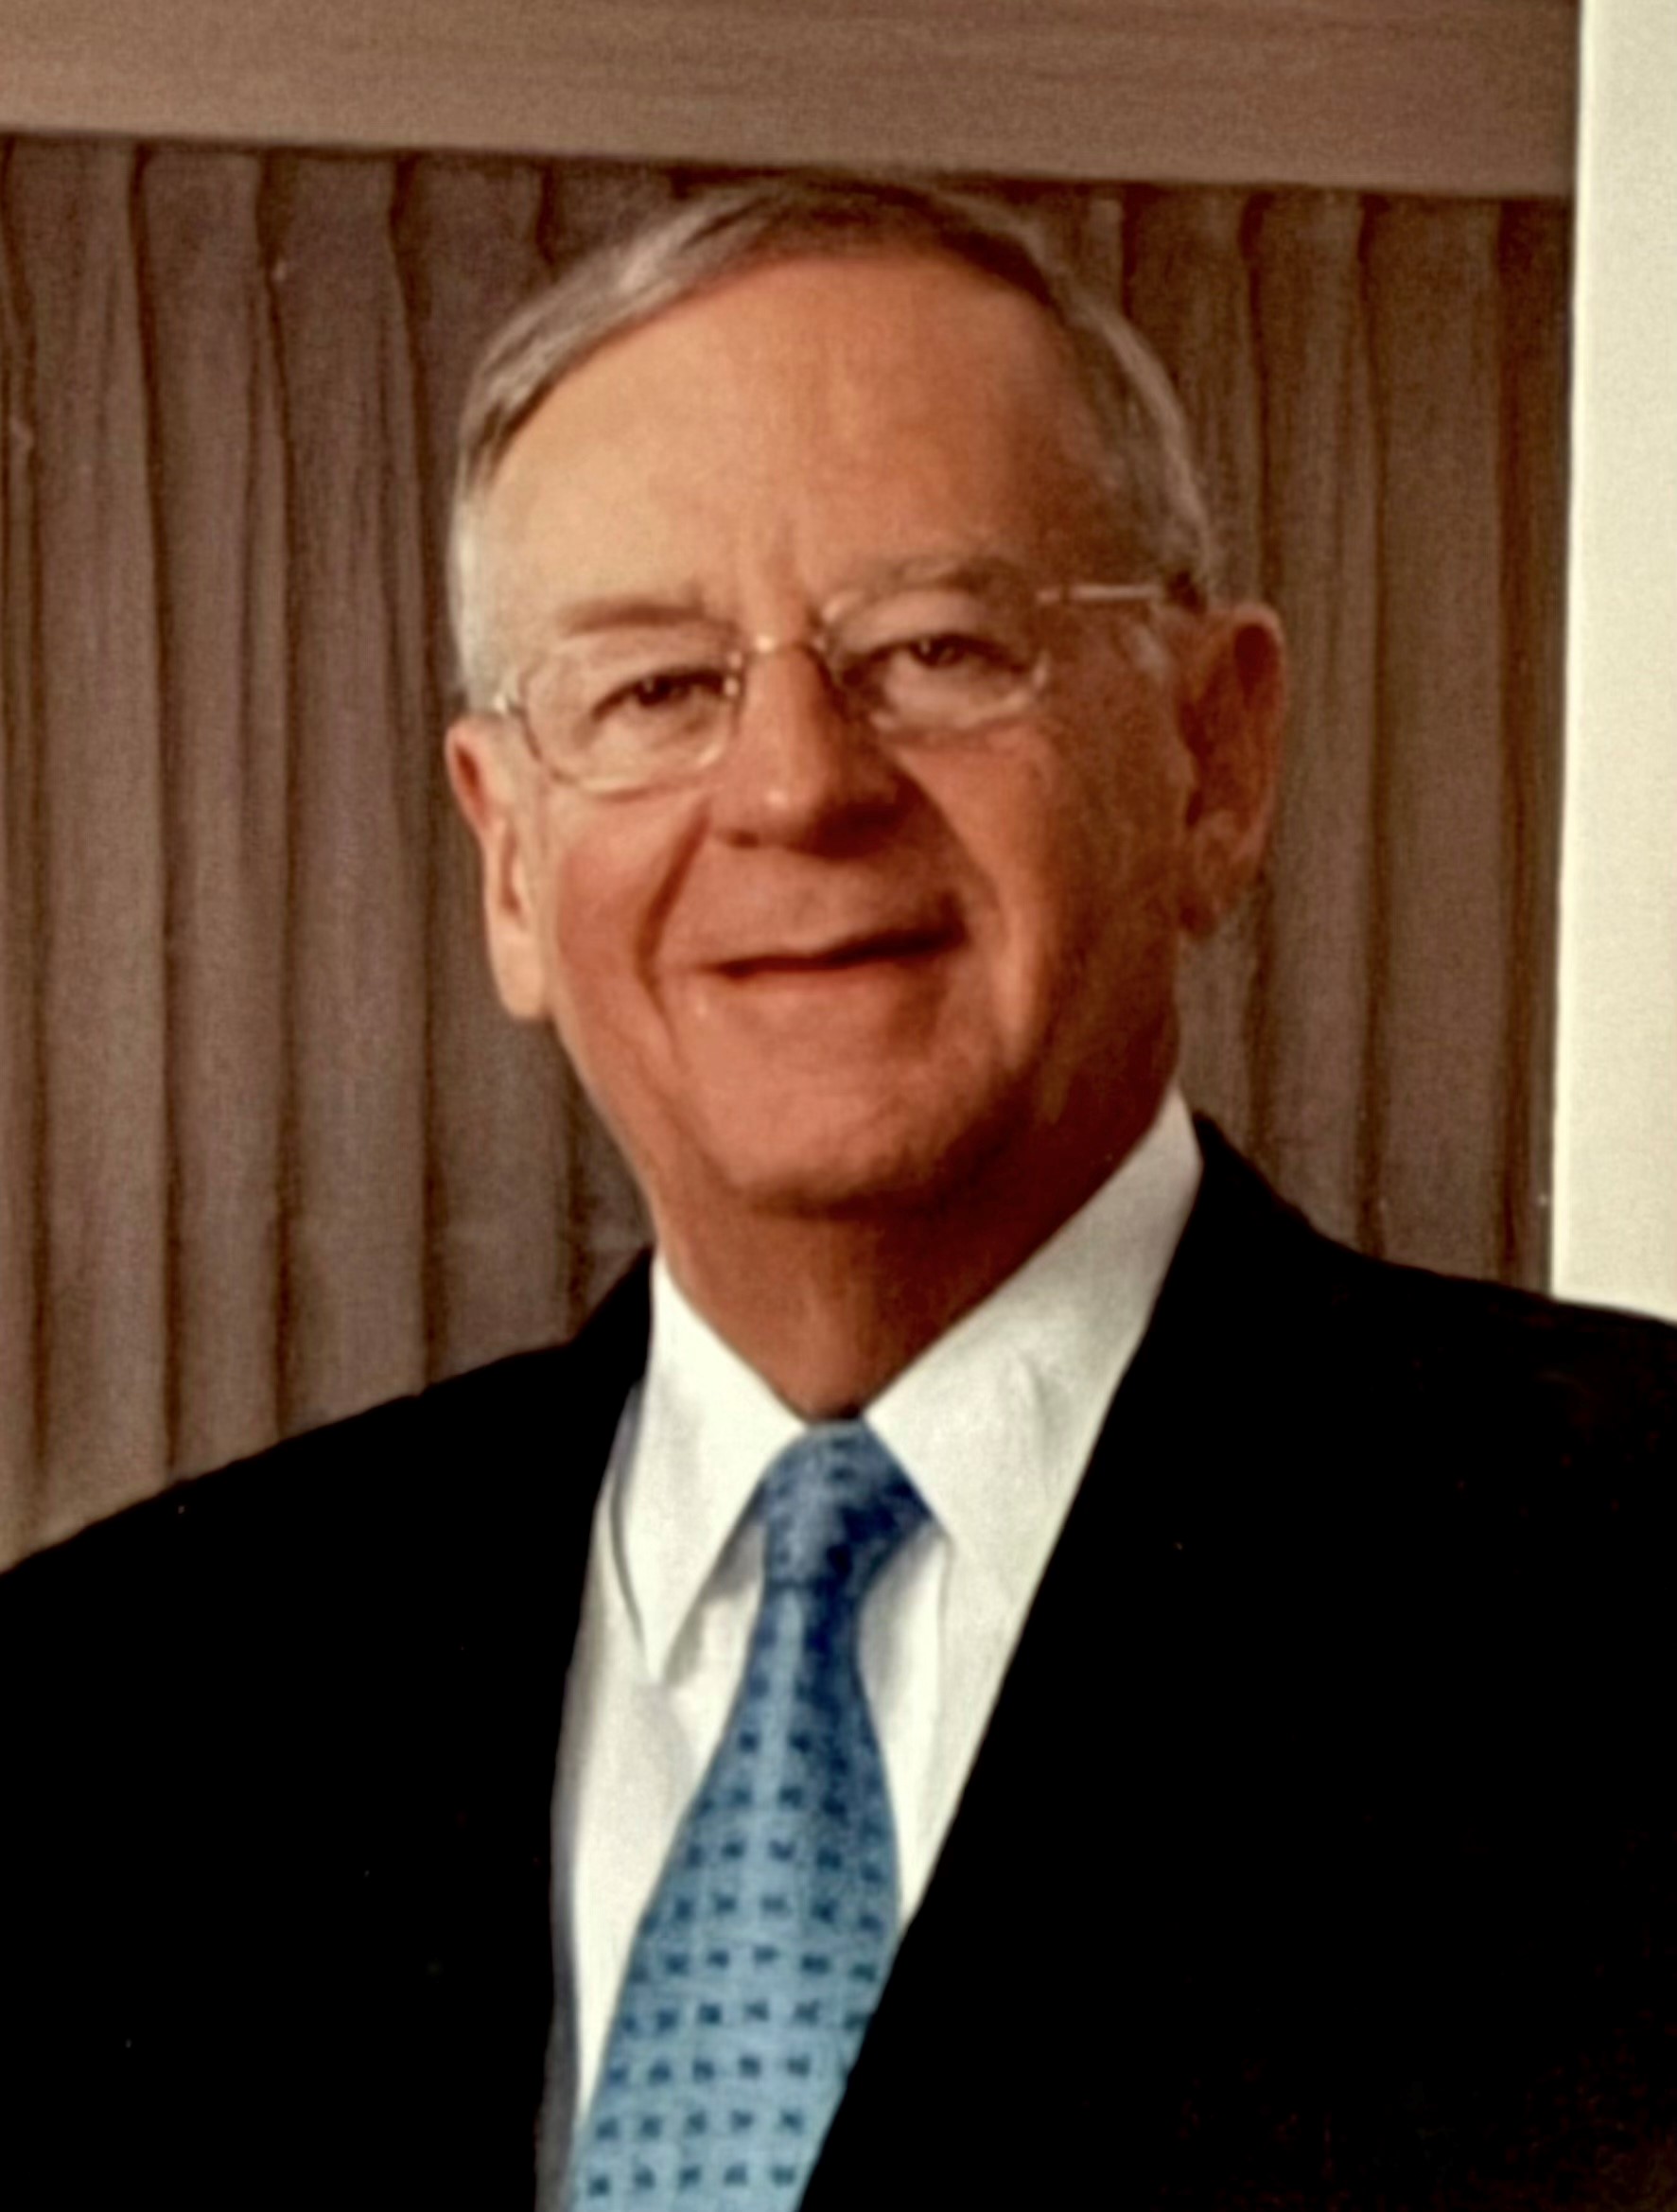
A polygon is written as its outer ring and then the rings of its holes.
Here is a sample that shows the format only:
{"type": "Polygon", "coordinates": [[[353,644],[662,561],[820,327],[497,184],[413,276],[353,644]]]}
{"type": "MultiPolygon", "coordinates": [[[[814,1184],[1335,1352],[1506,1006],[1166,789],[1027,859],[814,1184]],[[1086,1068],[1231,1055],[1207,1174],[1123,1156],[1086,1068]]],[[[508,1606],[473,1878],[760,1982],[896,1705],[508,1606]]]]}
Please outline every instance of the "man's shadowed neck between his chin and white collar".
{"type": "Polygon", "coordinates": [[[659,1221],[688,1301],[805,1420],[869,1405],[1062,1228],[1146,1135],[1157,1099],[1100,1148],[1022,1175],[1009,1161],[907,1208],[790,1214],[719,1208],[701,1232],[659,1221]]]}

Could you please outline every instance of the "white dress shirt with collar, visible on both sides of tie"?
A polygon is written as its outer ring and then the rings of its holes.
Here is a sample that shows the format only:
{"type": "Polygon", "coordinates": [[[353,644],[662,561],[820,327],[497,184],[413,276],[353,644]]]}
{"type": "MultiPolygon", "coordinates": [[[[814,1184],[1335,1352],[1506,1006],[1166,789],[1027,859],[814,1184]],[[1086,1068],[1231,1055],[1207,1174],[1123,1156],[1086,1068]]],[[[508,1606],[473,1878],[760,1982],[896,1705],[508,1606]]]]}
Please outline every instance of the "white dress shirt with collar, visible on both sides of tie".
{"type": "MultiPolygon", "coordinates": [[[[1170,1091],[1095,1197],[867,1407],[929,1509],[861,1619],[903,1924],[1146,1332],[1199,1166],[1170,1091]]],[[[553,1902],[575,1991],[577,2110],[639,1916],[746,1668],[763,1579],[748,1506],[803,1429],[655,1261],[646,1378],[600,1491],[560,1739],[553,1902]]]]}

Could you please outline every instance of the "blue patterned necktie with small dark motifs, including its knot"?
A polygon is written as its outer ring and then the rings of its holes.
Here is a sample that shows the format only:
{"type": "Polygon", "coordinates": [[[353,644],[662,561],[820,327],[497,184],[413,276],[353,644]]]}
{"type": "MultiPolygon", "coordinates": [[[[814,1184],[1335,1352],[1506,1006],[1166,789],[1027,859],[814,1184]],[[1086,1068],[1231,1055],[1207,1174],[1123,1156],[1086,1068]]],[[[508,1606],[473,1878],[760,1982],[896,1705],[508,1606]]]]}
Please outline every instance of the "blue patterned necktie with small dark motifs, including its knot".
{"type": "Polygon", "coordinates": [[[757,1509],[746,1677],[635,1936],[573,2212],[796,2205],[896,1947],[896,1834],[856,1624],[925,1506],[850,1420],[790,1444],[757,1509]]]}

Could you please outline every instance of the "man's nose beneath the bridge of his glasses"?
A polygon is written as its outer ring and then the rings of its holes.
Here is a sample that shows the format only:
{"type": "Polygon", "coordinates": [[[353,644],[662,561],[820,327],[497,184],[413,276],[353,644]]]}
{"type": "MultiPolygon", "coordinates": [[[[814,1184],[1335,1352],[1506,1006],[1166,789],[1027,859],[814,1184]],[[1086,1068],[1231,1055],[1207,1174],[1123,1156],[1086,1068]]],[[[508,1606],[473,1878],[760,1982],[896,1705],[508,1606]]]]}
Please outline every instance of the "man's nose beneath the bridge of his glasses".
{"type": "Polygon", "coordinates": [[[777,644],[746,668],[732,741],[712,770],[710,827],[741,845],[845,843],[892,814],[905,785],[814,648],[777,644]]]}

